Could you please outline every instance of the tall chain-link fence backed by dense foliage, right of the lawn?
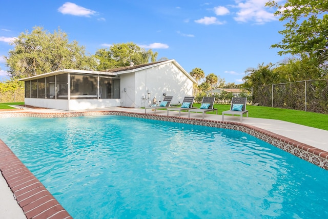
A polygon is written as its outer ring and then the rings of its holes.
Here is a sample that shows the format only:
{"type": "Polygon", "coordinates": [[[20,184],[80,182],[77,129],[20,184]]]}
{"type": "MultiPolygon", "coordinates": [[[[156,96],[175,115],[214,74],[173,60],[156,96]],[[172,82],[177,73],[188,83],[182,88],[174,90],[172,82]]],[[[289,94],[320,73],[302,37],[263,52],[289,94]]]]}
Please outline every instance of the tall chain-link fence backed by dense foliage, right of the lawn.
{"type": "Polygon", "coordinates": [[[328,79],[254,87],[253,103],[328,114],[328,79]]]}

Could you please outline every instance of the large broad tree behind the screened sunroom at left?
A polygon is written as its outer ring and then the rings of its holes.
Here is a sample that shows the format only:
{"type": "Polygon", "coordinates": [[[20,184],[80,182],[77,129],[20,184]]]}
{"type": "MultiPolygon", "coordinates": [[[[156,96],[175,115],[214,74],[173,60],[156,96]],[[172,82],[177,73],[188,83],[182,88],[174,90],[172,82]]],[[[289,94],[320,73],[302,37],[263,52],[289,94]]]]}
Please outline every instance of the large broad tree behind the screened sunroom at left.
{"type": "Polygon", "coordinates": [[[13,50],[5,56],[11,77],[22,78],[60,69],[95,69],[94,58],[85,54],[76,41],[68,42],[65,32],[58,29],[49,33],[42,27],[33,27],[14,39],[13,50]]]}

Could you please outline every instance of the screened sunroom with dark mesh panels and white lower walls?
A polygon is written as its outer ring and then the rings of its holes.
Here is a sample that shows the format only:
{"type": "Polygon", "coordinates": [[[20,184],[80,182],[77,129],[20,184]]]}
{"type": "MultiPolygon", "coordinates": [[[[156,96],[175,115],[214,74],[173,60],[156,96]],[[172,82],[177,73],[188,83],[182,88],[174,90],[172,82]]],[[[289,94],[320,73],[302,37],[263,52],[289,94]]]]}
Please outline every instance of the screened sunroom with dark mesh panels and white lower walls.
{"type": "Polygon", "coordinates": [[[114,72],[64,69],[21,79],[25,104],[80,110],[120,106],[120,78],[114,72]]]}

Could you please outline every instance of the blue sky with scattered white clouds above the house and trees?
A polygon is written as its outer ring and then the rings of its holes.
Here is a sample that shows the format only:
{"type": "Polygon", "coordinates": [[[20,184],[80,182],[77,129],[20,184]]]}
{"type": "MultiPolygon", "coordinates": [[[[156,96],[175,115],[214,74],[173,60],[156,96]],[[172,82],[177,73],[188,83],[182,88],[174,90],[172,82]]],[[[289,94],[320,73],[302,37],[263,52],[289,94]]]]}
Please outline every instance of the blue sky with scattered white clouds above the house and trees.
{"type": "MultiPolygon", "coordinates": [[[[3,56],[14,37],[34,26],[60,28],[88,54],[112,44],[133,42],[175,59],[187,72],[201,68],[226,82],[242,83],[248,68],[281,63],[271,49],[283,23],[264,7],[267,0],[221,1],[3,1],[0,22],[0,80],[7,75],[3,56]]],[[[278,0],[277,2],[281,2],[278,0]]]]}

